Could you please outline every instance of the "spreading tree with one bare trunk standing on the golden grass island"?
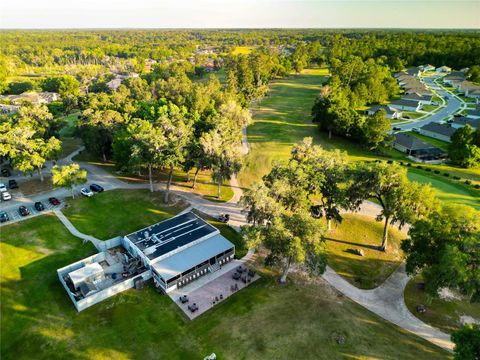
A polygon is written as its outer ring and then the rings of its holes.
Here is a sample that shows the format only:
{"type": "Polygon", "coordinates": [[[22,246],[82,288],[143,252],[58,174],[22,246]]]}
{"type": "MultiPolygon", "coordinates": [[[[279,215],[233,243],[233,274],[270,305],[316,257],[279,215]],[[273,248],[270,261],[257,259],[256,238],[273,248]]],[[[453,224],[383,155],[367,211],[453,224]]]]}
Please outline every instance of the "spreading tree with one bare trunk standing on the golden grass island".
{"type": "Polygon", "coordinates": [[[347,189],[348,203],[356,210],[367,199],[376,200],[382,207],[377,221],[384,220],[383,239],[380,249],[386,251],[388,228],[399,228],[413,220],[430,214],[437,206],[429,185],[410,182],[407,170],[397,164],[361,163],[351,170],[347,189]]]}

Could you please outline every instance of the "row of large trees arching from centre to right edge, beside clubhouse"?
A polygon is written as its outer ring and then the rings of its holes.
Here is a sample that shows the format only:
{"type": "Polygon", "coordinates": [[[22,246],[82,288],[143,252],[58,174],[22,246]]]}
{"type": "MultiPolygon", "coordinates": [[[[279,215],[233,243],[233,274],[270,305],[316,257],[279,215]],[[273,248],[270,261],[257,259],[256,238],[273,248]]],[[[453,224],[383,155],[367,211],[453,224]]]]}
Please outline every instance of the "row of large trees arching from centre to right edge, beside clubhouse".
{"type": "Polygon", "coordinates": [[[306,138],[296,145],[288,163],[247,190],[241,203],[247,221],[243,233],[250,246],[269,250],[267,264],[282,267],[285,281],[292,264],[313,274],[326,266],[323,236],[343,211],[357,211],[365,200],[380,205],[384,232],[380,250],[387,250],[390,226],[410,224],[402,243],[407,272],[422,271],[426,290],[459,290],[480,300],[480,214],[470,207],[441,207],[432,188],[410,182],[395,164],[349,164],[344,153],[327,151],[306,138]],[[323,217],[324,221],[319,218],[323,217]]]}

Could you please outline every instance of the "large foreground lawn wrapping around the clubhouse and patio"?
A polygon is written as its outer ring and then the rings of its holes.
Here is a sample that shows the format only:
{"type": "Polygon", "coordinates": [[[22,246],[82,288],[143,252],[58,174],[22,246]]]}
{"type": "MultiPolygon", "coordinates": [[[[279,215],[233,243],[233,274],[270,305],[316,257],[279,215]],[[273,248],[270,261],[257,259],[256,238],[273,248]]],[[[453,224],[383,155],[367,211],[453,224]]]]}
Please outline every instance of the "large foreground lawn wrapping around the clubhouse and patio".
{"type": "Polygon", "coordinates": [[[268,275],[187,321],[151,284],[77,313],[56,270],[94,253],[54,215],[1,228],[2,359],[447,359],[330,287],[268,275]],[[345,344],[336,342],[345,337],[345,344]]]}

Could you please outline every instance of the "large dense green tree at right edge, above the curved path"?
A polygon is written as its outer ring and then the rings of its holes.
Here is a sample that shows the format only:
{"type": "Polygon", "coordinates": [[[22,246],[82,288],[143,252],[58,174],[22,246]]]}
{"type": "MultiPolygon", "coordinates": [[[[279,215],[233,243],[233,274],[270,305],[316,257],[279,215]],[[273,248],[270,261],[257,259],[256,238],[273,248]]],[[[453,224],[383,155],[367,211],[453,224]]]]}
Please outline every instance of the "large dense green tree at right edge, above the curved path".
{"type": "Polygon", "coordinates": [[[413,223],[402,243],[407,272],[419,271],[425,290],[438,296],[455,288],[480,301],[480,213],[468,206],[445,206],[413,223]]]}

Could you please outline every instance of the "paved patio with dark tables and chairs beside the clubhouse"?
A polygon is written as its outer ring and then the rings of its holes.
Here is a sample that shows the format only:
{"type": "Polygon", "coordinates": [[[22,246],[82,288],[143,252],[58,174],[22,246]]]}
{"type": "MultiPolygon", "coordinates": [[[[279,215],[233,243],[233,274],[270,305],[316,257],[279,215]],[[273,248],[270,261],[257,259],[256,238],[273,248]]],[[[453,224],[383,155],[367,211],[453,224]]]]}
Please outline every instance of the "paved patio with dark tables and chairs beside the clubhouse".
{"type": "Polygon", "coordinates": [[[193,320],[259,278],[243,261],[234,260],[188,286],[171,291],[168,296],[193,320]],[[196,310],[191,311],[192,307],[196,310]]]}

